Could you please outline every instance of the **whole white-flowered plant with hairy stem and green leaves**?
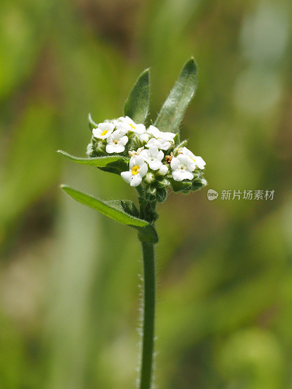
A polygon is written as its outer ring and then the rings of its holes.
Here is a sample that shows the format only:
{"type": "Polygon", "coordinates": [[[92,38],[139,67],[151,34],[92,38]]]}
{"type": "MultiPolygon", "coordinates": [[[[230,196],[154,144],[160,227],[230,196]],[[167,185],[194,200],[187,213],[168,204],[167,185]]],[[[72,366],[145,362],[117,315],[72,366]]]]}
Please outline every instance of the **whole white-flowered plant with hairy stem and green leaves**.
{"type": "Polygon", "coordinates": [[[144,306],[142,358],[139,388],[149,389],[153,381],[155,258],[158,242],[155,221],[157,203],[163,203],[169,188],[188,194],[206,185],[205,162],[187,149],[180,139],[184,111],[197,88],[197,67],[190,58],[171,89],[155,122],[147,128],[149,110],[149,70],[137,79],[124,106],[124,116],[95,123],[88,116],[92,133],[87,158],[58,153],[74,162],[96,166],[119,175],[138,191],[139,206],[130,200],[104,201],[67,185],[61,188],[75,200],[112,219],[138,230],[144,262],[144,306]]]}

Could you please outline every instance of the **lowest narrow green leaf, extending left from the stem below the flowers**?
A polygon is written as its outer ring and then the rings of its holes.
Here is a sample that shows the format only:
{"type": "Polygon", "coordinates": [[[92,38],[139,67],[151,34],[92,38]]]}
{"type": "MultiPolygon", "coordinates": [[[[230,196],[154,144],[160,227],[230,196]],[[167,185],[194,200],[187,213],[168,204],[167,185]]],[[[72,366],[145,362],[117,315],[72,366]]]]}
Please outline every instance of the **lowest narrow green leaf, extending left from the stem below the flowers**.
{"type": "Polygon", "coordinates": [[[149,226],[149,223],[146,222],[146,220],[131,216],[126,213],[123,210],[123,207],[119,206],[117,202],[114,203],[112,201],[106,202],[99,200],[98,198],[92,197],[91,195],[87,195],[83,192],[79,192],[67,185],[61,185],[61,188],[73,199],[79,201],[79,203],[87,205],[88,207],[111,217],[117,222],[135,227],[149,226]]]}

